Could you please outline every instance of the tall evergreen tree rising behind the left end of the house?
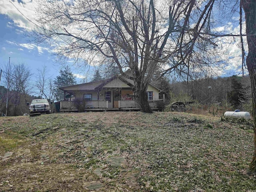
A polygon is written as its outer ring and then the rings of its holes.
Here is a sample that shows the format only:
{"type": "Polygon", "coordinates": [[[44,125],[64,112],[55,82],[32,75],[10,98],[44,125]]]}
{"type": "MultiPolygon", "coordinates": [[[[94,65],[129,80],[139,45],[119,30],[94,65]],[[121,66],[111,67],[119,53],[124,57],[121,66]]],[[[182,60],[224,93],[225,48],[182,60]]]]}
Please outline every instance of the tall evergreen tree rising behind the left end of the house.
{"type": "Polygon", "coordinates": [[[61,101],[64,99],[64,92],[59,90],[59,87],[69,86],[76,84],[74,75],[71,69],[66,66],[64,70],[60,70],[60,75],[58,75],[54,80],[54,86],[56,87],[56,100],[61,101]]]}

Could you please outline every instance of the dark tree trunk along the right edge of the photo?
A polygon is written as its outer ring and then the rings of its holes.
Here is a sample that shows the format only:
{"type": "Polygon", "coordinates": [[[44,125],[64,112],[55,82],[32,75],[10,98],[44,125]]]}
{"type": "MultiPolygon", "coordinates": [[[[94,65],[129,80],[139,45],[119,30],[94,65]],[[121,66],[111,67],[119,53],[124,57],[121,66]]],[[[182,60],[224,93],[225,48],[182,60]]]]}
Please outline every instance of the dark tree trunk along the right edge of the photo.
{"type": "Polygon", "coordinates": [[[256,1],[241,0],[246,21],[248,56],[246,65],[250,75],[252,88],[252,116],[254,121],[254,155],[249,171],[256,173],[256,1]]]}

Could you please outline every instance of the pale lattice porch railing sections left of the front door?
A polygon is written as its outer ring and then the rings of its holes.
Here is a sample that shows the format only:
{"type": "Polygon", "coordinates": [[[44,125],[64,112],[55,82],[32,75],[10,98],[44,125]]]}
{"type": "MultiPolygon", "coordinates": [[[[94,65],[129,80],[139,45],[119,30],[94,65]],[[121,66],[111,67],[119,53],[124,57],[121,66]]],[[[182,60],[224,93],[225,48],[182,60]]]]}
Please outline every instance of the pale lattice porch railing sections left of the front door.
{"type": "MultiPolygon", "coordinates": [[[[85,108],[108,108],[108,101],[87,101],[85,108]]],[[[76,109],[75,101],[61,101],[60,110],[76,109]]]]}

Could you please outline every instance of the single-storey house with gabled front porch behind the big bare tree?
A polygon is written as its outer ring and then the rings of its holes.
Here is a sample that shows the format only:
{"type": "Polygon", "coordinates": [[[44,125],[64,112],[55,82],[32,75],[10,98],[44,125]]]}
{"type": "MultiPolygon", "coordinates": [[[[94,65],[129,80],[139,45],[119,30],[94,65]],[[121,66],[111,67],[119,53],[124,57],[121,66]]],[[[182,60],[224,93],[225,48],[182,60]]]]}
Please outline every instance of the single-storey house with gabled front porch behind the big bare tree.
{"type": "MultiPolygon", "coordinates": [[[[85,111],[94,110],[139,110],[134,92],[134,81],[127,75],[118,75],[109,79],[60,87],[64,95],[72,95],[60,102],[60,112],[77,111],[75,102],[85,101],[85,111]],[[73,98],[73,99],[72,99],[73,98]]],[[[148,101],[153,110],[163,106],[164,99],[159,100],[159,88],[149,84],[148,101]]]]}

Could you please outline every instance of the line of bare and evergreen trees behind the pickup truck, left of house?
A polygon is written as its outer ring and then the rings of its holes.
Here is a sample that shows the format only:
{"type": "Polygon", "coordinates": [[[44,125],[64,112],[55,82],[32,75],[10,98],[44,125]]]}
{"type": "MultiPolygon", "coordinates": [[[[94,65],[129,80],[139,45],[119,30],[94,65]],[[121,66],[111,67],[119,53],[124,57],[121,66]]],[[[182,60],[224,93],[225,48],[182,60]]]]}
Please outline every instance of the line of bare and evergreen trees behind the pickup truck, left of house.
{"type": "Polygon", "coordinates": [[[64,93],[58,88],[76,84],[71,69],[66,66],[59,71],[56,78],[48,75],[46,66],[32,74],[24,63],[2,66],[3,73],[0,86],[0,115],[18,116],[29,113],[27,102],[45,98],[50,101],[64,99],[64,93]],[[34,83],[32,78],[36,77],[34,83]],[[7,108],[6,108],[7,106],[7,108]]]}

